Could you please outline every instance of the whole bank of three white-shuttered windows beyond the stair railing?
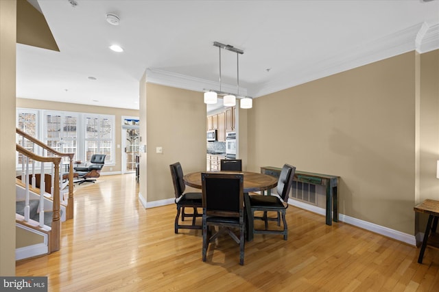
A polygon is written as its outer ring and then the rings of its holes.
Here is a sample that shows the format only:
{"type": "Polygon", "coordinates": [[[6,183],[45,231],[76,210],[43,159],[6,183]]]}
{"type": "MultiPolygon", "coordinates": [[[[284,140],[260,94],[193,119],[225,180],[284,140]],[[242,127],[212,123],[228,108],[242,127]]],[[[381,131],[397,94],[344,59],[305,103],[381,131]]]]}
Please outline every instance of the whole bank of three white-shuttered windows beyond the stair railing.
{"type": "MultiPolygon", "coordinates": [[[[106,164],[115,163],[115,116],[81,114],[43,109],[16,109],[16,127],[59,152],[75,153],[73,161],[90,161],[93,154],[105,154],[106,164]]],[[[21,145],[21,137],[17,135],[21,145]]],[[[26,142],[25,148],[40,153],[26,142]]],[[[21,155],[16,158],[17,167],[21,155]]],[[[69,163],[64,157],[62,163],[69,163]]]]}

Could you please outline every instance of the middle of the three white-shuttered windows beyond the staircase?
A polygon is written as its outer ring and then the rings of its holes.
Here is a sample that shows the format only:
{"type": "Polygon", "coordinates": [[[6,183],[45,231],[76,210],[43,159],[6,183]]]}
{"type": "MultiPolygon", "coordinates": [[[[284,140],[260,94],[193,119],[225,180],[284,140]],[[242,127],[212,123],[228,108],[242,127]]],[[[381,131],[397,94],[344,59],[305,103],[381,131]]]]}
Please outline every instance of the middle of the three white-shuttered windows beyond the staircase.
{"type": "MultiPolygon", "coordinates": [[[[45,143],[58,152],[75,153],[75,161],[78,157],[78,114],[47,111],[44,119],[45,143]]],[[[69,163],[69,158],[64,157],[63,162],[69,163]]]]}

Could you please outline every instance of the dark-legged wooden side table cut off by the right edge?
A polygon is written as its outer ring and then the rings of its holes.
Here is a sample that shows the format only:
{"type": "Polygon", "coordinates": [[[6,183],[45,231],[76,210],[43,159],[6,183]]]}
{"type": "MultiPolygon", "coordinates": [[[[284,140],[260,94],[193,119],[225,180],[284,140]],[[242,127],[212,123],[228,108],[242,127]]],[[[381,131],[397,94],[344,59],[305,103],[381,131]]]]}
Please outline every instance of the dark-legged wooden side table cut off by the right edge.
{"type": "Polygon", "coordinates": [[[413,209],[419,213],[429,214],[427,226],[425,227],[423,244],[420,247],[418,257],[418,263],[423,263],[424,252],[427,245],[431,246],[431,248],[439,248],[439,235],[436,233],[439,219],[439,201],[427,199],[416,205],[413,209]]]}

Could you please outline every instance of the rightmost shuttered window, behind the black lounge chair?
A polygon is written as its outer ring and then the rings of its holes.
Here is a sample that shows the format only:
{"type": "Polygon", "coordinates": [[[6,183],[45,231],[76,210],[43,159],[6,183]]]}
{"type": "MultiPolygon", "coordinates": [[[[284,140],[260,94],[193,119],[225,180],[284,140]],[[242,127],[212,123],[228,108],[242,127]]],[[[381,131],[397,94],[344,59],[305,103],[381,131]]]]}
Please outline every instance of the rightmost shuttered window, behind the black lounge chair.
{"type": "Polygon", "coordinates": [[[93,154],[105,154],[106,163],[114,163],[115,117],[84,114],[85,159],[93,154]]]}

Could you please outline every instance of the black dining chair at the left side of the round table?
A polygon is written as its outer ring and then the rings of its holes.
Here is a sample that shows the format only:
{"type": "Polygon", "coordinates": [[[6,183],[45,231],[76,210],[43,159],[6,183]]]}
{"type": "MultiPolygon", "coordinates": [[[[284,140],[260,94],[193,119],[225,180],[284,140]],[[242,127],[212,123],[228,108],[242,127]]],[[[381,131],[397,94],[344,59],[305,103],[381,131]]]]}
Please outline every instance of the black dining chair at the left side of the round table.
{"type": "Polygon", "coordinates": [[[195,220],[197,217],[202,217],[202,214],[198,213],[198,208],[202,207],[202,194],[200,192],[188,192],[185,193],[186,185],[183,181],[183,170],[180,162],[169,165],[171,170],[172,183],[174,184],[174,193],[176,196],[175,202],[177,205],[177,215],[174,224],[174,231],[178,233],[178,229],[202,229],[202,225],[196,225],[195,220]],[[185,207],[193,209],[193,213],[185,213],[185,207]],[[192,217],[192,225],[178,224],[180,220],[185,221],[185,217],[192,217]]]}

